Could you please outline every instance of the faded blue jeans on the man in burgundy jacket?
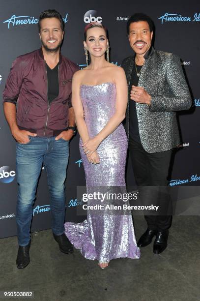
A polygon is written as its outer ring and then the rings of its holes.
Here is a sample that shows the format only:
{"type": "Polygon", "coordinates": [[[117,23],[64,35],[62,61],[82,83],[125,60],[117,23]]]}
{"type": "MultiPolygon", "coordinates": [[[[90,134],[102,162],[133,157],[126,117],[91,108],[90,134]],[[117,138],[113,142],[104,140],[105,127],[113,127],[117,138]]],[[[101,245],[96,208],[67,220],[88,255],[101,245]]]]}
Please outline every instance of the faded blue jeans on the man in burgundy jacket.
{"type": "Polygon", "coordinates": [[[16,173],[18,182],[17,231],[20,246],[30,241],[32,207],[42,164],[47,172],[54,234],[64,233],[64,181],[69,158],[69,142],[55,137],[31,137],[27,144],[17,143],[16,173]]]}

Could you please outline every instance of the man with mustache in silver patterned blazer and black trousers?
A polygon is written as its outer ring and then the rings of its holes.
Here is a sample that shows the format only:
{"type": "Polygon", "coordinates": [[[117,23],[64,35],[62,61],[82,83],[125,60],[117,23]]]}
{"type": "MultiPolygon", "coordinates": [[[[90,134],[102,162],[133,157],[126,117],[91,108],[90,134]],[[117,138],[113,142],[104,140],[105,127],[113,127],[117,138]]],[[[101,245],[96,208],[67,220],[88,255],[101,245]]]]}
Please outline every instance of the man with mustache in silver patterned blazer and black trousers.
{"type": "Polygon", "coordinates": [[[123,60],[129,99],[125,129],[134,176],[139,186],[157,186],[157,194],[146,189],[148,204],[155,201],[162,213],[144,215],[147,230],[139,247],[151,243],[159,254],[167,247],[171,215],[169,195],[165,191],[172,148],[180,144],[176,111],[188,110],[192,101],[180,59],[152,47],[153,21],[144,14],[134,14],[127,22],[127,33],[135,55],[123,60]],[[162,188],[161,188],[162,186],[162,188]],[[169,213],[168,213],[169,214],[169,213]]]}

